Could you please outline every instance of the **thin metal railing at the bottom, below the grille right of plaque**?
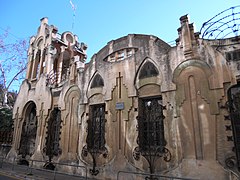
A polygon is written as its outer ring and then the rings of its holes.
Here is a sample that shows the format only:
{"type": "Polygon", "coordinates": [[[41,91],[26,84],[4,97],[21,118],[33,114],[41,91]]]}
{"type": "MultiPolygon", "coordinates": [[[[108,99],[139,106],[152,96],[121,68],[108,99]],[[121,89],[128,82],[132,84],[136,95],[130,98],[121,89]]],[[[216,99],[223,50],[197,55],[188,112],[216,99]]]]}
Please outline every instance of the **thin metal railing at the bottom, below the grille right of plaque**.
{"type": "Polygon", "coordinates": [[[141,175],[141,176],[151,176],[151,177],[159,177],[159,178],[164,178],[167,180],[197,180],[197,179],[192,179],[192,178],[183,178],[183,177],[174,177],[174,176],[165,176],[165,175],[160,175],[160,174],[150,174],[150,173],[143,173],[143,172],[132,172],[132,171],[118,171],[117,173],[117,180],[119,180],[120,174],[129,174],[129,175],[141,175]]]}

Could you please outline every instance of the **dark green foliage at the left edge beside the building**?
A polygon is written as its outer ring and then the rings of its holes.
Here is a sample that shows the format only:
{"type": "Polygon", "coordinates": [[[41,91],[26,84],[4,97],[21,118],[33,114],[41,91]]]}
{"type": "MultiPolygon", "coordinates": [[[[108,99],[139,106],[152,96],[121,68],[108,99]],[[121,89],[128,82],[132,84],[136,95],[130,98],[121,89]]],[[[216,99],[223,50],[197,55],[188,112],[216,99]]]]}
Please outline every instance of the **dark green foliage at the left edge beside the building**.
{"type": "Polygon", "coordinates": [[[12,109],[0,109],[0,131],[11,131],[13,125],[12,109]]]}

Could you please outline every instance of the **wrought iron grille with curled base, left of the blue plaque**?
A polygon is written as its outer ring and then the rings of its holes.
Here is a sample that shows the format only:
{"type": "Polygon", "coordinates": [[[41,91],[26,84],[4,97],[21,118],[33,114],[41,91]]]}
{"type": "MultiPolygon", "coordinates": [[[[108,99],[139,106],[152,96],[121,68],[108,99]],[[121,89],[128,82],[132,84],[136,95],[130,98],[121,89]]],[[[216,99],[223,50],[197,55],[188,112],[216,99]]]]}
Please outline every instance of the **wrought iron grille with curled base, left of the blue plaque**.
{"type": "Polygon", "coordinates": [[[88,120],[87,147],[83,147],[83,156],[88,152],[93,159],[93,168],[90,169],[92,175],[97,175],[99,170],[96,169],[96,159],[102,154],[107,157],[107,148],[105,147],[105,104],[90,106],[90,117],[88,120]]]}

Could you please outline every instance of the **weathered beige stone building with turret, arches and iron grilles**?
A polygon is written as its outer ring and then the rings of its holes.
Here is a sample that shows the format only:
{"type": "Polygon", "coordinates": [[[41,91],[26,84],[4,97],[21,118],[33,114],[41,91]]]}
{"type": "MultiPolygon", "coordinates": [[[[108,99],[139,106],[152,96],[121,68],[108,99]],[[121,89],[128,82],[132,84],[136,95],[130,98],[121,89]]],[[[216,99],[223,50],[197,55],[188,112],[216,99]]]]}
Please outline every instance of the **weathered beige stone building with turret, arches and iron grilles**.
{"type": "Polygon", "coordinates": [[[97,179],[238,176],[239,38],[202,39],[182,16],[176,46],[129,34],[89,63],[86,49],[41,19],[14,106],[9,160],[84,166],[97,179]]]}

